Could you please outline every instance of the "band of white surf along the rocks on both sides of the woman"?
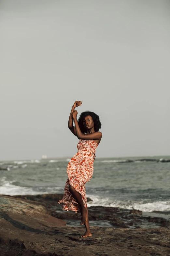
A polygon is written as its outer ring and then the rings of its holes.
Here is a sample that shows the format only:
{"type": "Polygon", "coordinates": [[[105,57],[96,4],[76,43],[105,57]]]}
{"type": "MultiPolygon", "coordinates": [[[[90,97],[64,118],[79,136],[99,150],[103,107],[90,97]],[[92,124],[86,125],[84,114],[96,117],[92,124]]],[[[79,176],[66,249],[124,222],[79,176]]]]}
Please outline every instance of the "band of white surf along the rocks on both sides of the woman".
{"type": "MultiPolygon", "coordinates": [[[[8,181],[7,177],[0,178],[0,194],[3,195],[38,195],[38,194],[49,194],[49,193],[63,193],[64,189],[62,187],[25,187],[25,186],[16,186],[13,183],[16,180],[8,181]]],[[[113,200],[112,198],[96,196],[96,195],[87,195],[92,199],[91,202],[88,202],[88,207],[90,206],[105,206],[105,207],[119,207],[123,209],[136,209],[141,210],[142,212],[168,212],[170,211],[170,200],[166,201],[154,201],[144,203],[143,201],[134,202],[132,200],[113,200]]]]}

